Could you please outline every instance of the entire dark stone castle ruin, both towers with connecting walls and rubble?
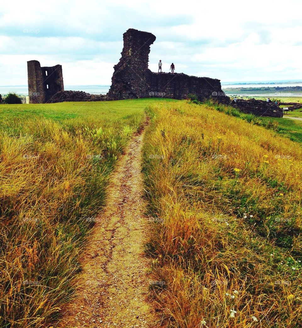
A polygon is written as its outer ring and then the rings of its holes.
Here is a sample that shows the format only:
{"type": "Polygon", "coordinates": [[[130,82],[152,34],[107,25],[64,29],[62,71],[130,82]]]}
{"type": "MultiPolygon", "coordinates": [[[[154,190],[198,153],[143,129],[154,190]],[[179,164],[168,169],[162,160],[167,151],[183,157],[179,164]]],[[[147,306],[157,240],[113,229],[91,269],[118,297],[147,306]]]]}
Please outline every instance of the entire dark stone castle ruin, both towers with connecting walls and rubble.
{"type": "Polygon", "coordinates": [[[189,76],[183,73],[155,73],[148,69],[150,46],[156,40],[149,32],[128,29],[123,34],[124,46],[119,63],[114,66],[112,84],[107,95],[82,91],[64,91],[62,66],[40,67],[36,60],[28,64],[30,103],[63,101],[101,101],[133,98],[164,97],[187,99],[195,94],[204,101],[212,98],[218,103],[230,104],[244,113],[282,117],[282,110],[274,103],[262,100],[230,101],[221,89],[220,80],[189,76]]]}

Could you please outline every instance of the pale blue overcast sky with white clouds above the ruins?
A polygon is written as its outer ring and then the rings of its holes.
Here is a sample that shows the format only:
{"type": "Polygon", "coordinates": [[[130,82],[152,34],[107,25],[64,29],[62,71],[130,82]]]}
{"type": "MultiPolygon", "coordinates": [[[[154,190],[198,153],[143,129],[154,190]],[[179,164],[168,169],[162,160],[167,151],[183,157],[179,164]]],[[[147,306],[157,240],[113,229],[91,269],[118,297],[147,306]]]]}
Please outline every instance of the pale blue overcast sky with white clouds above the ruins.
{"type": "Polygon", "coordinates": [[[27,61],[63,66],[64,85],[110,85],[129,28],[156,36],[149,68],[224,81],[302,79],[302,1],[7,1],[0,85],[27,85],[27,61]]]}

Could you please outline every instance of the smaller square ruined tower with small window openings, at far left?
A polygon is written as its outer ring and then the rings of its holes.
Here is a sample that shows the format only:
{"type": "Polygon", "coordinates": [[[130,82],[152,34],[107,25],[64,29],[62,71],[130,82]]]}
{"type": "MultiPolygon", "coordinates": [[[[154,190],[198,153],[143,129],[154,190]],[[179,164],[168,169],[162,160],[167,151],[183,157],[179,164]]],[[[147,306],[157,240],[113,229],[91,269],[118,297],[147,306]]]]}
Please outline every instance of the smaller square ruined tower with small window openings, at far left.
{"type": "Polygon", "coordinates": [[[43,104],[58,91],[64,90],[62,66],[41,67],[37,60],[27,62],[30,104],[43,104]]]}

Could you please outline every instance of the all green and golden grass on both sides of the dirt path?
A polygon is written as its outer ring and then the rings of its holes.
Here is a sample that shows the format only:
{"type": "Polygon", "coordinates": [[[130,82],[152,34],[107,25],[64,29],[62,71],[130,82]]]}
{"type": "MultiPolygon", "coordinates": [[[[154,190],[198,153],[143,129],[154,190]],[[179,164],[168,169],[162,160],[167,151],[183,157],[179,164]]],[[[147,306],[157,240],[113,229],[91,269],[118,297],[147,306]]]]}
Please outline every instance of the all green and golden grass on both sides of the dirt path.
{"type": "Polygon", "coordinates": [[[301,123],[152,98],[0,106],[0,327],[49,327],[72,297],[91,218],[145,109],[148,213],[164,219],[148,249],[170,326],[300,324],[301,145],[288,138],[302,141],[301,123]]]}

